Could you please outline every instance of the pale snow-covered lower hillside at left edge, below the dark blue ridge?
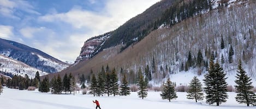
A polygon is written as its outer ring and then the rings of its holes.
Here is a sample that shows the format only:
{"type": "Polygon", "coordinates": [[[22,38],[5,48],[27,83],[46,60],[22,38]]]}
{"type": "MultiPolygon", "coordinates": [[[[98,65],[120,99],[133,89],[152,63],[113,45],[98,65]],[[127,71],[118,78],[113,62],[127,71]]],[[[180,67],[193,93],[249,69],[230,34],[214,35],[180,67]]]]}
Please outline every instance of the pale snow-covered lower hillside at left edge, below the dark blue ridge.
{"type": "Polygon", "coordinates": [[[10,77],[13,75],[25,76],[25,74],[27,74],[30,79],[35,77],[36,72],[39,72],[40,75],[48,74],[46,72],[42,72],[39,69],[28,66],[23,62],[0,55],[0,74],[10,77]]]}

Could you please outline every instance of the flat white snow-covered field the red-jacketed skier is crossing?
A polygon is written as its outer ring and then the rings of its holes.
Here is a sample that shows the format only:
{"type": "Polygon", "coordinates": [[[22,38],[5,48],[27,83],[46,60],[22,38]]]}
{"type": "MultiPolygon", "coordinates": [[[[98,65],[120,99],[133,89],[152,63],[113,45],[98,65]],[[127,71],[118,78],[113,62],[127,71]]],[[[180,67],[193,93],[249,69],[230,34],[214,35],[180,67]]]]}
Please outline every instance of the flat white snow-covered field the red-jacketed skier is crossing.
{"type": "Polygon", "coordinates": [[[0,95],[1,109],[90,109],[95,108],[92,100],[98,100],[102,109],[210,109],[210,108],[255,108],[246,107],[245,104],[238,104],[235,101],[236,93],[231,92],[229,99],[221,106],[208,105],[204,101],[195,103],[194,100],[186,99],[186,92],[177,92],[178,98],[175,100],[162,100],[160,92],[148,92],[148,97],[142,100],[138,98],[136,92],[131,95],[116,97],[93,97],[93,95],[82,95],[77,93],[55,95],[51,93],[40,93],[38,91],[19,91],[17,89],[9,89],[4,87],[3,93],[0,95]]]}

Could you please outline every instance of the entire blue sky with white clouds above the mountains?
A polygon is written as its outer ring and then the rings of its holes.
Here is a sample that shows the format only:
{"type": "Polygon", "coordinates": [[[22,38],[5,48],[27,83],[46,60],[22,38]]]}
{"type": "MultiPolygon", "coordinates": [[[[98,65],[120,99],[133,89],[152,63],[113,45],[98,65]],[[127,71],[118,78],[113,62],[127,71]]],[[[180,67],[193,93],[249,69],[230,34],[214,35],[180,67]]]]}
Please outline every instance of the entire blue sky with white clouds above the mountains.
{"type": "Polygon", "coordinates": [[[74,61],[92,36],[118,28],[160,0],[0,0],[0,37],[74,61]]]}

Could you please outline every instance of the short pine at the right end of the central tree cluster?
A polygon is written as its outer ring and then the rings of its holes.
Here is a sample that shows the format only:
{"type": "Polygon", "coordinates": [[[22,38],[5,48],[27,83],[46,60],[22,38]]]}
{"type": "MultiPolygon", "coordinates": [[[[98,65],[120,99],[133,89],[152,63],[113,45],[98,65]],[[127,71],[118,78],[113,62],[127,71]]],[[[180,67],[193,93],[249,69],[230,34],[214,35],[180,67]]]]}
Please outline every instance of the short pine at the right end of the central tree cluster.
{"type": "Polygon", "coordinates": [[[126,80],[126,75],[125,74],[123,75],[120,95],[125,95],[125,96],[130,95],[130,87],[128,87],[128,82],[126,80]]]}

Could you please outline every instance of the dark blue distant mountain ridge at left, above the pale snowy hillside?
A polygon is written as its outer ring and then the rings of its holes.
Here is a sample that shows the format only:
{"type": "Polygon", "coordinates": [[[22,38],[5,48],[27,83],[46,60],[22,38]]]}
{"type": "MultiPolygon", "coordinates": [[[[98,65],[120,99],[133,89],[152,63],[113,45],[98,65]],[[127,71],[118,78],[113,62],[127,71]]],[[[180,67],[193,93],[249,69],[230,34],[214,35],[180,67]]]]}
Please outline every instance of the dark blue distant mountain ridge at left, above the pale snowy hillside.
{"type": "Polygon", "coordinates": [[[47,73],[56,73],[69,66],[68,63],[55,59],[38,49],[4,39],[0,39],[0,54],[47,73]]]}

